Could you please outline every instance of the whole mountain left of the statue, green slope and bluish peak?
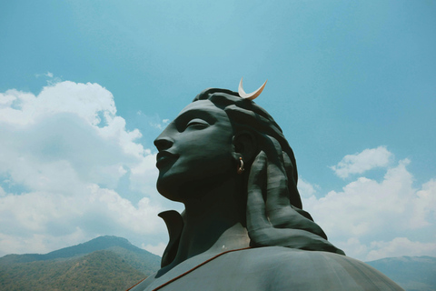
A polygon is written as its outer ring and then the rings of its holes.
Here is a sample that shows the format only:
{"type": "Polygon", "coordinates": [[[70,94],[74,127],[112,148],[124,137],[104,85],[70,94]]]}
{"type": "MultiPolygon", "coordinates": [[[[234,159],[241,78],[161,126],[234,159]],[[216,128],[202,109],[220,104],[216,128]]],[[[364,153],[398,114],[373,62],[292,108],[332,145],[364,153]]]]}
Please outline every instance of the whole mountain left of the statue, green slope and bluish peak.
{"type": "Polygon", "coordinates": [[[125,290],[160,268],[161,258],[117,236],[39,255],[0,258],[0,290],[125,290]]]}

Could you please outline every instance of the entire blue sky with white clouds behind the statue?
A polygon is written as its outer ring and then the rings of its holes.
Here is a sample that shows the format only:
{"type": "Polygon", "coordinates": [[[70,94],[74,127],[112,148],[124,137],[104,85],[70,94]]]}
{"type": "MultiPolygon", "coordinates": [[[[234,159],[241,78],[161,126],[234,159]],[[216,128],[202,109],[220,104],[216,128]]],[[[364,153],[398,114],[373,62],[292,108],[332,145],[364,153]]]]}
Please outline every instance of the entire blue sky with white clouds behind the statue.
{"type": "Polygon", "coordinates": [[[0,39],[0,256],[162,251],[154,137],[242,76],[334,244],[436,256],[436,1],[9,1],[0,39]]]}

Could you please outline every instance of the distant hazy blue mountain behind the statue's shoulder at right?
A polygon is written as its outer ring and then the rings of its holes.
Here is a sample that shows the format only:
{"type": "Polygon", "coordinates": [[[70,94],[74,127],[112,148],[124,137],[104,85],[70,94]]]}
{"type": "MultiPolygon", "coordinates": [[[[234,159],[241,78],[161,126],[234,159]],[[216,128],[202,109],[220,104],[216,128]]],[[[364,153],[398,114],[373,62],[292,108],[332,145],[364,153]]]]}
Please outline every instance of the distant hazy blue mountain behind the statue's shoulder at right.
{"type": "Polygon", "coordinates": [[[407,291],[436,290],[436,257],[387,257],[366,262],[407,291]]]}

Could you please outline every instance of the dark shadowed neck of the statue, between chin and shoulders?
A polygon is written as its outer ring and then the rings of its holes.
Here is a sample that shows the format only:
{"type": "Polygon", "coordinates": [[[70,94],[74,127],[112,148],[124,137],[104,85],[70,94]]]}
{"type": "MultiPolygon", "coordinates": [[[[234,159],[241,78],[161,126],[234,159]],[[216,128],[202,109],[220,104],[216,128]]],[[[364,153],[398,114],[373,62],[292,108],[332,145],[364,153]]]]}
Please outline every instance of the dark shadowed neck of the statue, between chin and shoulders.
{"type": "Polygon", "coordinates": [[[248,247],[250,238],[244,225],[240,187],[229,179],[201,198],[184,202],[184,226],[173,266],[199,254],[220,254],[248,247]]]}

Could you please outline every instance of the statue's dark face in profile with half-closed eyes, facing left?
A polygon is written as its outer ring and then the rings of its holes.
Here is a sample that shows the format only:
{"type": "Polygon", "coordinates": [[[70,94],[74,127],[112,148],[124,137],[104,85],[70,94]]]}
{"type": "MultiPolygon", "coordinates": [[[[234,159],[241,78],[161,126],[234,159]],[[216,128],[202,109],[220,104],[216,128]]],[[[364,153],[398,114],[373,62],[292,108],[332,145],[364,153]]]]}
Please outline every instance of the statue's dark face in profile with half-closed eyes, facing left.
{"type": "Polygon", "coordinates": [[[187,105],[154,141],[158,191],[184,202],[233,176],[232,137],[228,116],[211,101],[187,105]]]}

